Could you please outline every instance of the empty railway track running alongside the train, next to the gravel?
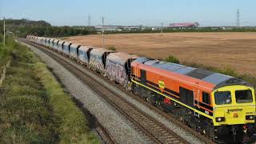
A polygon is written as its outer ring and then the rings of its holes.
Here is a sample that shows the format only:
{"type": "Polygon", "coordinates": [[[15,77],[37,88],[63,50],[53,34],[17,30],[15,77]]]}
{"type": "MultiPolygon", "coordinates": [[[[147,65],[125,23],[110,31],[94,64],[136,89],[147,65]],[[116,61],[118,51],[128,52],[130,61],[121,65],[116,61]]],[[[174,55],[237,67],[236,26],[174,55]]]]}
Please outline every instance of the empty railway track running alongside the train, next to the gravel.
{"type": "MultiPolygon", "coordinates": [[[[26,42],[22,40],[22,42],[26,42]]],[[[61,64],[84,82],[87,86],[90,86],[92,90],[97,92],[102,98],[106,99],[112,106],[114,106],[120,113],[122,113],[127,119],[130,120],[141,131],[149,142],[155,143],[188,143],[186,140],[175,134],[162,123],[158,122],[150,115],[146,114],[142,110],[139,110],[134,104],[128,102],[125,98],[118,96],[114,91],[109,90],[106,86],[102,86],[100,82],[91,78],[90,75],[85,74],[82,70],[79,70],[76,66],[70,62],[66,62],[63,56],[57,54],[54,50],[49,50],[43,46],[35,45],[34,43],[26,42],[42,52],[48,54],[51,58],[54,58],[56,62],[61,64]],[[54,52],[54,53],[53,53],[54,52]]]]}

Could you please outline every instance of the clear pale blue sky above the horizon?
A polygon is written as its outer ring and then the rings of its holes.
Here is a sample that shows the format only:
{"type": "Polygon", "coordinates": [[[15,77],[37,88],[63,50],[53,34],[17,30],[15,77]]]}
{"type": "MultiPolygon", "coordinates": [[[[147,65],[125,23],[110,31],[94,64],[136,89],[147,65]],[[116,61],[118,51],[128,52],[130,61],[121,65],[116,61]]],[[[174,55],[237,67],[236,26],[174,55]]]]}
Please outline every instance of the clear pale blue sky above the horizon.
{"type": "Polygon", "coordinates": [[[45,20],[53,26],[256,26],[255,0],[0,0],[0,17],[45,20]]]}

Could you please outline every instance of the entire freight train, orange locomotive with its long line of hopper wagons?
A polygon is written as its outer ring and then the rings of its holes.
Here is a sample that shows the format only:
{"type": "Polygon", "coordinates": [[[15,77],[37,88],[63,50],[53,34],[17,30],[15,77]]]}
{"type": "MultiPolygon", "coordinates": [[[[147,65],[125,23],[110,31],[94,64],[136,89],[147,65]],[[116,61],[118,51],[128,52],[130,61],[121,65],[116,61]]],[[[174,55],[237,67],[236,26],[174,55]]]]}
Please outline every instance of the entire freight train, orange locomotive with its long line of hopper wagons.
{"type": "Polygon", "coordinates": [[[242,79],[57,38],[26,39],[103,74],[214,142],[255,142],[255,91],[242,79]]]}

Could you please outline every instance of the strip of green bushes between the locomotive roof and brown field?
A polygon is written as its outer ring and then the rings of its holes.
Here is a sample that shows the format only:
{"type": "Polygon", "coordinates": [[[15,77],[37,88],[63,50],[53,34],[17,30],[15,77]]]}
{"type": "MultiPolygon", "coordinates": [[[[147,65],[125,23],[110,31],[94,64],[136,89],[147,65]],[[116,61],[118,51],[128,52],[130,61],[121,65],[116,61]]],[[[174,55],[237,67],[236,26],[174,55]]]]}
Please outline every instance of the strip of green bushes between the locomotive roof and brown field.
{"type": "Polygon", "coordinates": [[[198,64],[195,62],[179,62],[178,58],[174,57],[174,56],[169,56],[166,58],[166,62],[173,62],[173,63],[181,63],[182,65],[185,66],[191,66],[191,67],[196,67],[196,68],[200,68],[203,70],[210,70],[210,71],[214,71],[216,73],[220,73],[220,74],[226,74],[226,75],[230,75],[233,76],[235,78],[240,78],[245,80],[246,82],[249,82],[250,84],[252,84],[254,86],[254,88],[256,88],[256,76],[250,75],[250,74],[238,74],[238,72],[236,72],[234,69],[232,69],[231,67],[226,67],[223,69],[219,69],[213,66],[205,66],[202,64],[198,64]]]}

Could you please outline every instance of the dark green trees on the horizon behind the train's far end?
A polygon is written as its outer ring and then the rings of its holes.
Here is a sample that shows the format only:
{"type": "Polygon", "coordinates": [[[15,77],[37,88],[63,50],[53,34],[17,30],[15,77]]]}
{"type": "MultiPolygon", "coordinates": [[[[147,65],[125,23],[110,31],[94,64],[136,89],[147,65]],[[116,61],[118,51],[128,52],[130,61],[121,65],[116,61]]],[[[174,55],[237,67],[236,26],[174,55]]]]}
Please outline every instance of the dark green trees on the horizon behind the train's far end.
{"type": "MultiPolygon", "coordinates": [[[[6,31],[10,31],[20,38],[25,38],[26,35],[66,37],[96,33],[93,27],[51,26],[50,23],[45,21],[31,21],[27,19],[6,19],[6,31]]],[[[0,32],[3,33],[3,20],[0,21],[0,32]]]]}

